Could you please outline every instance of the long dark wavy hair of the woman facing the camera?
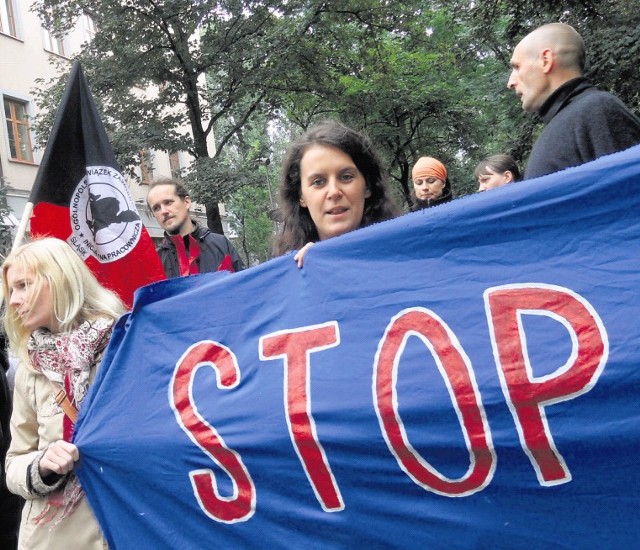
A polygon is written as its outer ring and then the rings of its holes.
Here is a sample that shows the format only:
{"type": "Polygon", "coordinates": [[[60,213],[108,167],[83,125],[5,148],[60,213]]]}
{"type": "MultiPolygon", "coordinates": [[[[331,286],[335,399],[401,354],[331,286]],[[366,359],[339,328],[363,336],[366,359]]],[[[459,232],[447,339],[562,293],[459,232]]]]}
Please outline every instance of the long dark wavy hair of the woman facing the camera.
{"type": "Polygon", "coordinates": [[[312,145],[328,145],[351,157],[364,176],[371,196],[364,201],[364,214],[360,227],[389,220],[398,215],[399,209],[389,196],[386,172],[364,133],[335,120],[327,120],[309,128],[290,146],[282,162],[280,175],[280,204],[283,227],[276,237],[276,254],[297,250],[308,242],[318,240],[318,231],[309,210],[300,206],[300,162],[312,145]]]}

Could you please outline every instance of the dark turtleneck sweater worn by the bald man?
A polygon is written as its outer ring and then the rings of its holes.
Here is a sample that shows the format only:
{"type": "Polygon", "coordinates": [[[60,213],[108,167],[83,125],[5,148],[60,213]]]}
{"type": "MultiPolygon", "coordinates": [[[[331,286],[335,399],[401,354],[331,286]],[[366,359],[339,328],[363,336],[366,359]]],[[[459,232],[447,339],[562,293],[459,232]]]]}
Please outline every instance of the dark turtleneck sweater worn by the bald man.
{"type": "Polygon", "coordinates": [[[542,105],[545,128],[531,150],[525,179],[533,179],[640,143],[640,119],[585,78],[563,84],[542,105]]]}

